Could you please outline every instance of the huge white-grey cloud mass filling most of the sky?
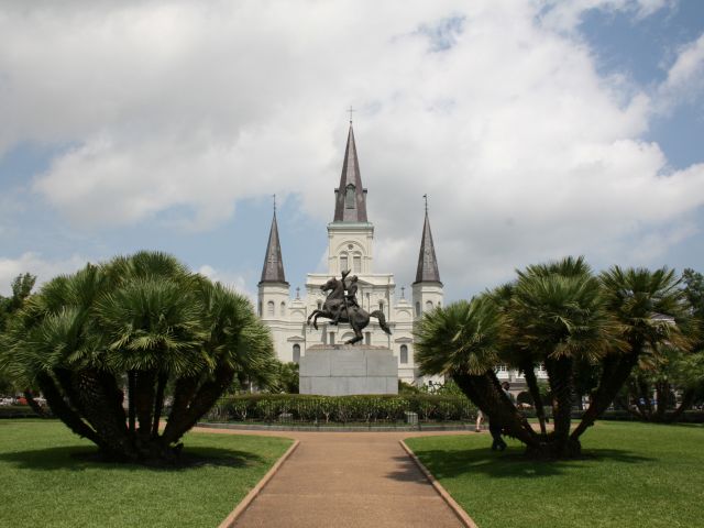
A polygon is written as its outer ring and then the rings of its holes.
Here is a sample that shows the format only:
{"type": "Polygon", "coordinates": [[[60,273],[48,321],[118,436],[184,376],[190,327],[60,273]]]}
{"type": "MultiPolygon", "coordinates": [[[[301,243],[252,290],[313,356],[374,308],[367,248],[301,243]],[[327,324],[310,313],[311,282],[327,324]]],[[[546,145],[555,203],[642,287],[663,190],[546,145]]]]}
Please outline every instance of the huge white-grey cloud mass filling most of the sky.
{"type": "Polygon", "coordinates": [[[590,9],[668,3],[12,4],[0,151],[73,145],[33,188],[76,226],[177,208],[208,229],[273,193],[328,221],[352,103],[380,272],[413,277],[426,193],[441,274],[460,289],[565,253],[664,254],[697,229],[704,166],[670,172],[639,139],[653,101],[601,77],[564,32],[590,9]]]}

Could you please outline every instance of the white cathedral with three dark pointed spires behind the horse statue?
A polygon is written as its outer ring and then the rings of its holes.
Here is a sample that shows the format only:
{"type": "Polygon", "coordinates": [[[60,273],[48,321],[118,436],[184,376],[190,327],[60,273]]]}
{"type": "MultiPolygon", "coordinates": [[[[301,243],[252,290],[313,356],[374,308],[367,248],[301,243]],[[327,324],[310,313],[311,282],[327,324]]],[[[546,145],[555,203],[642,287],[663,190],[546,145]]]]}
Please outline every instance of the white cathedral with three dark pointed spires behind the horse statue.
{"type": "Polygon", "coordinates": [[[398,361],[399,380],[422,384],[426,378],[420,376],[414,361],[414,324],[424,311],[442,306],[443,297],[428,211],[426,209],[411,299],[405,298],[403,288],[397,299],[394,274],[374,270],[374,224],[366,217],[366,189],[362,186],[352,122],[340,186],[334,194],[334,218],[328,224],[328,273],[309,273],[304,297],[297,292],[292,299],[274,211],[258,283],[257,309],[272,331],[276,354],[283,362],[298,362],[311,345],[343,343],[354,336],[348,324],[336,327],[326,319],[318,321],[319,330],[306,324],[308,315],[316,308],[320,309],[324,301],[320,286],[330,277],[339,278],[342,271],[350,270],[359,277],[360,306],[370,312],[382,310],[393,332],[392,336],[384,333],[373,319],[364,329],[364,343],[391,349],[398,361]]]}

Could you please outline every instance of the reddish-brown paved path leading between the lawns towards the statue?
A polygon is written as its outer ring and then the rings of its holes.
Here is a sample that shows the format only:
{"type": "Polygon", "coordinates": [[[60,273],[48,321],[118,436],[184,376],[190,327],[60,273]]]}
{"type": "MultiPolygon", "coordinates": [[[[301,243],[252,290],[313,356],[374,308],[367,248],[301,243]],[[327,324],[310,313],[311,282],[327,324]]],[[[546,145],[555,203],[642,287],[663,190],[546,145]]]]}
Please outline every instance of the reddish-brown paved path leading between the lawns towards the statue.
{"type": "Polygon", "coordinates": [[[399,444],[405,438],[437,432],[201,430],[300,440],[237,527],[462,526],[399,444]]]}

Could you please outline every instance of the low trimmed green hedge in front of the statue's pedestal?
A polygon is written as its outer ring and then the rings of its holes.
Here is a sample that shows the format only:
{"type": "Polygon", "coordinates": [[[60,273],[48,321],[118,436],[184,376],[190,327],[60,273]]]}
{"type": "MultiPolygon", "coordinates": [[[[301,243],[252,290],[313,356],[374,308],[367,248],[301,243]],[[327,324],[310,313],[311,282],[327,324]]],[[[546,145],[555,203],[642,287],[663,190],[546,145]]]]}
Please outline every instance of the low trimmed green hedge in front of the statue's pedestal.
{"type": "Polygon", "coordinates": [[[208,420],[388,424],[406,421],[406,413],[417,414],[424,422],[476,418],[476,407],[462,396],[246,394],[221,398],[208,414],[208,420]]]}

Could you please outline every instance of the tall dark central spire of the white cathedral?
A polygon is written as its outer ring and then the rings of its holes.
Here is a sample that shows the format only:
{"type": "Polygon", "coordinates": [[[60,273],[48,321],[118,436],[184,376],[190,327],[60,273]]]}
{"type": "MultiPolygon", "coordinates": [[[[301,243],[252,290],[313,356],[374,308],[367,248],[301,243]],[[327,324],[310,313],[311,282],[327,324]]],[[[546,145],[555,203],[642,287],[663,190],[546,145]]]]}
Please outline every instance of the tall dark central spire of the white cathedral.
{"type": "Polygon", "coordinates": [[[334,190],[334,222],[367,222],[366,189],[362,187],[360,162],[356,158],[354,131],[350,120],[348,145],[344,150],[340,187],[334,190]]]}

